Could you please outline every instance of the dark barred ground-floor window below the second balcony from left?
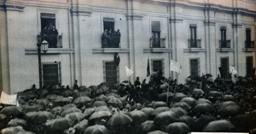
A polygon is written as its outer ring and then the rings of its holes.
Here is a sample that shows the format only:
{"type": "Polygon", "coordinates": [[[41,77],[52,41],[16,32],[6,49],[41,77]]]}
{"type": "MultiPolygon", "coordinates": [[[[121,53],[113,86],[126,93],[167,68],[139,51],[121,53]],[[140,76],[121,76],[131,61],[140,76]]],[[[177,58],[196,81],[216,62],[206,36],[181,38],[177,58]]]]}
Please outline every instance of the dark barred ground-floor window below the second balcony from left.
{"type": "Polygon", "coordinates": [[[113,60],[103,61],[104,82],[113,85],[119,83],[119,66],[113,60]]]}

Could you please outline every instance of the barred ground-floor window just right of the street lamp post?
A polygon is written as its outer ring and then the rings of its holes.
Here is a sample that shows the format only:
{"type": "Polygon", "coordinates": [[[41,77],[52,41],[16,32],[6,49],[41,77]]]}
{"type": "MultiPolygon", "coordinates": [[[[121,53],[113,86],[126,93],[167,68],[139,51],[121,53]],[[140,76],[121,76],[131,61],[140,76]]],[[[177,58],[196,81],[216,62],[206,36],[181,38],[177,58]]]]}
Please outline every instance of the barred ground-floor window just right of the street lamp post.
{"type": "Polygon", "coordinates": [[[61,83],[61,62],[43,62],[42,64],[44,85],[61,83]]]}

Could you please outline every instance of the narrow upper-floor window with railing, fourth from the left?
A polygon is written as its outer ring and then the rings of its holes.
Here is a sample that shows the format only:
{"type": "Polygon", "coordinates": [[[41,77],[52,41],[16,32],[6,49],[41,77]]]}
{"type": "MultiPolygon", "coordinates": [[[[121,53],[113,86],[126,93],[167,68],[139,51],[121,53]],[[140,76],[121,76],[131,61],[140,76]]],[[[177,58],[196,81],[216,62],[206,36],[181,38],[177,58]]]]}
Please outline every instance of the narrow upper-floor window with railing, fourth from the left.
{"type": "Polygon", "coordinates": [[[197,39],[196,35],[196,24],[189,24],[190,29],[190,39],[189,39],[189,48],[201,48],[201,39],[197,39]]]}

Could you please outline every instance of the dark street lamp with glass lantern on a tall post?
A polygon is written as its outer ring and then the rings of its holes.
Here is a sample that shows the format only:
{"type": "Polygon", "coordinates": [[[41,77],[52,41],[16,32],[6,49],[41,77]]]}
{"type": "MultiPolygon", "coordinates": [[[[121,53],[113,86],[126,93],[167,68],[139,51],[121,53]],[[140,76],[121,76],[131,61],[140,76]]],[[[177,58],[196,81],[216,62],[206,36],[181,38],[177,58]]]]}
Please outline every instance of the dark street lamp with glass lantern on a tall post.
{"type": "Polygon", "coordinates": [[[37,43],[38,46],[38,68],[39,68],[39,87],[40,90],[43,89],[43,81],[42,81],[42,64],[41,64],[41,50],[46,53],[48,51],[48,42],[43,39],[41,42],[41,37],[37,43]]]}

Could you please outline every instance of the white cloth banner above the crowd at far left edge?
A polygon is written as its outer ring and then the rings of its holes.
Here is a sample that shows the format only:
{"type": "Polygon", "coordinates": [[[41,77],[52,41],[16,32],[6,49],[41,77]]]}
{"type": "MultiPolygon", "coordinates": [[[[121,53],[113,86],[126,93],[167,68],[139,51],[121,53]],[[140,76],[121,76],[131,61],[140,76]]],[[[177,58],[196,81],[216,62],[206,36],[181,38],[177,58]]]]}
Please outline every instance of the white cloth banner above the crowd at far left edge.
{"type": "Polygon", "coordinates": [[[0,97],[0,103],[7,104],[7,105],[16,105],[17,103],[17,94],[8,95],[2,91],[0,97]]]}

